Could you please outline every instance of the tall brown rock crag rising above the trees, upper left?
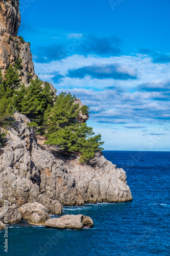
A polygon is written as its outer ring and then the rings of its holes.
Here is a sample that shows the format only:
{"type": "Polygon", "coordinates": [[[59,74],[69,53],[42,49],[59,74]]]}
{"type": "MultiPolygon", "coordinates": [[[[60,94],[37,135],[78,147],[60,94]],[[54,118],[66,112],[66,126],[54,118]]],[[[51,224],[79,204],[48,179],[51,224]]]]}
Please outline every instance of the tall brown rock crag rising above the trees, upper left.
{"type": "Polygon", "coordinates": [[[20,26],[18,0],[0,0],[0,69],[5,73],[8,66],[21,58],[21,78],[25,84],[36,77],[30,44],[17,36],[20,26]]]}

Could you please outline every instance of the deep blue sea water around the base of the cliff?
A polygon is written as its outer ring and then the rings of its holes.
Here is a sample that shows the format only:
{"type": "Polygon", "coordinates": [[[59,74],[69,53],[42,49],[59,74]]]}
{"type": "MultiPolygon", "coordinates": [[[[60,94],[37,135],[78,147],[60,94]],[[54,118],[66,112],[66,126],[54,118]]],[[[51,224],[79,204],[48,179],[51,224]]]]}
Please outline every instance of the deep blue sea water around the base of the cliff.
{"type": "Polygon", "coordinates": [[[8,253],[3,252],[4,231],[0,232],[0,254],[170,255],[170,152],[105,151],[104,156],[125,169],[133,201],[64,207],[64,215],[90,216],[91,229],[48,229],[26,222],[12,225],[8,253]]]}

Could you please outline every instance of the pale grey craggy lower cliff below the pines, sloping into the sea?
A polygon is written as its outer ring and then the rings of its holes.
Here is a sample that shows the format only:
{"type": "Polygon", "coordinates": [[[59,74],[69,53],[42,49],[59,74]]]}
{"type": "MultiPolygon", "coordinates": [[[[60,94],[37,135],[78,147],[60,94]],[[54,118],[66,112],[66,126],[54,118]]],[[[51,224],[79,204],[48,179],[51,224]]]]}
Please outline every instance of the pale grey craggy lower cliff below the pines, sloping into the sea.
{"type": "Polygon", "coordinates": [[[17,207],[38,202],[49,214],[61,214],[61,205],[132,200],[126,173],[102,154],[81,164],[79,155],[38,144],[26,116],[16,112],[14,118],[0,148],[1,207],[4,200],[17,207]]]}

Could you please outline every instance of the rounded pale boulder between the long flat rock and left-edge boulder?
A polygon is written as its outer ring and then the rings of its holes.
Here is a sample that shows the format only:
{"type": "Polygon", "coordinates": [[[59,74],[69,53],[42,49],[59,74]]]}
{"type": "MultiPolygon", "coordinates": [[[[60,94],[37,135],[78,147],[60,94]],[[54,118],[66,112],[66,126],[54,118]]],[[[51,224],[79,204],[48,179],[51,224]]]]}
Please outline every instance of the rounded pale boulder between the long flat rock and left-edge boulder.
{"type": "Polygon", "coordinates": [[[46,208],[36,202],[22,205],[18,210],[22,220],[26,220],[33,225],[42,225],[46,220],[50,219],[46,208]]]}

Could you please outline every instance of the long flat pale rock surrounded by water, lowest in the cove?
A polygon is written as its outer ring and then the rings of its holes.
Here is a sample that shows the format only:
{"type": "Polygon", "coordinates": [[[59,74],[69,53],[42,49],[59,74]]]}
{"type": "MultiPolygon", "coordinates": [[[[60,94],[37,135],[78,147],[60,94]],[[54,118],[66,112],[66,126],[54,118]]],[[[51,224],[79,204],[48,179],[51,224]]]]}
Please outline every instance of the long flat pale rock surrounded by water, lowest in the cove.
{"type": "Polygon", "coordinates": [[[83,216],[83,215],[65,215],[60,218],[54,218],[47,220],[44,223],[46,227],[54,227],[54,228],[61,228],[61,229],[81,229],[84,226],[92,227],[93,221],[90,217],[83,216]]]}

